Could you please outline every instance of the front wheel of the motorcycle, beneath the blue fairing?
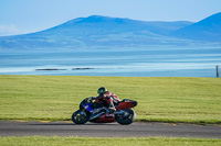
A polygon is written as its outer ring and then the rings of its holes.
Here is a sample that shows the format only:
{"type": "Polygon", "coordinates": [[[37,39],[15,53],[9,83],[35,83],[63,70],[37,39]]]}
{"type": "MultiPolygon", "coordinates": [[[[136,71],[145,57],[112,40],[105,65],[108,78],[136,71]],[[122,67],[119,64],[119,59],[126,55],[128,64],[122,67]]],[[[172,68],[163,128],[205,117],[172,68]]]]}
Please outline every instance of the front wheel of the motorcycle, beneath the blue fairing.
{"type": "Polygon", "coordinates": [[[72,121],[75,124],[85,124],[90,120],[90,115],[86,111],[78,110],[72,114],[72,121]]]}

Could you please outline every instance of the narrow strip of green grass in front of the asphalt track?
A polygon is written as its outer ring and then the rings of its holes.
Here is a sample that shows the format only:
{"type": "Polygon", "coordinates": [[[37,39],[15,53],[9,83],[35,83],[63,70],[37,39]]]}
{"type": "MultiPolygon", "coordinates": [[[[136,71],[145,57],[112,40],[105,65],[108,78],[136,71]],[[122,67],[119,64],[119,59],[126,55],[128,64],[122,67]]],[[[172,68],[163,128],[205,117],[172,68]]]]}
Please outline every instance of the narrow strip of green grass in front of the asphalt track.
{"type": "Polygon", "coordinates": [[[218,146],[221,139],[206,138],[93,138],[93,137],[0,137],[2,146],[218,146]]]}

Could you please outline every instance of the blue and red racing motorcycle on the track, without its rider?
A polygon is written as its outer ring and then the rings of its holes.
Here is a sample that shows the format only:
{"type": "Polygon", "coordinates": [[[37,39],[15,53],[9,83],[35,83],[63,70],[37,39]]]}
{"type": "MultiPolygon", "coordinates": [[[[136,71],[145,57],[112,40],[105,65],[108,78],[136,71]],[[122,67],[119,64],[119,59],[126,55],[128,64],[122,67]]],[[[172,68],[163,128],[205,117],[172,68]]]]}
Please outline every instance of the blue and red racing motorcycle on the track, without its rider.
{"type": "Polygon", "coordinates": [[[85,124],[86,122],[94,123],[112,123],[117,122],[122,125],[131,124],[136,119],[135,111],[131,108],[137,105],[137,101],[124,99],[115,104],[116,111],[109,113],[106,106],[94,108],[94,102],[91,98],[84,99],[80,103],[80,110],[72,114],[72,121],[75,124],[85,124]]]}

